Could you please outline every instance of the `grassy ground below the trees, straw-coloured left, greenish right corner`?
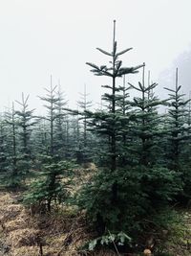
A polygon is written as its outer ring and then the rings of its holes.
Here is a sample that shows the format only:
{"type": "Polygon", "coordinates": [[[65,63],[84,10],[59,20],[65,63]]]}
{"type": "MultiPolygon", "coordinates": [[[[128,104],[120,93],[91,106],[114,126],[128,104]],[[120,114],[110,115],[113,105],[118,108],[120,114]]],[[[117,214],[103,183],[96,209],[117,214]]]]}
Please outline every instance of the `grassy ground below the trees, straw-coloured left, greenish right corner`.
{"type": "MultiPolygon", "coordinates": [[[[32,216],[20,202],[21,193],[0,191],[0,256],[113,256],[101,250],[83,254],[78,248],[94,238],[83,213],[74,207],[54,209],[51,214],[32,216]]],[[[178,210],[179,223],[159,240],[161,256],[191,255],[191,210],[178,210]]],[[[133,256],[135,254],[121,254],[133,256]]]]}

